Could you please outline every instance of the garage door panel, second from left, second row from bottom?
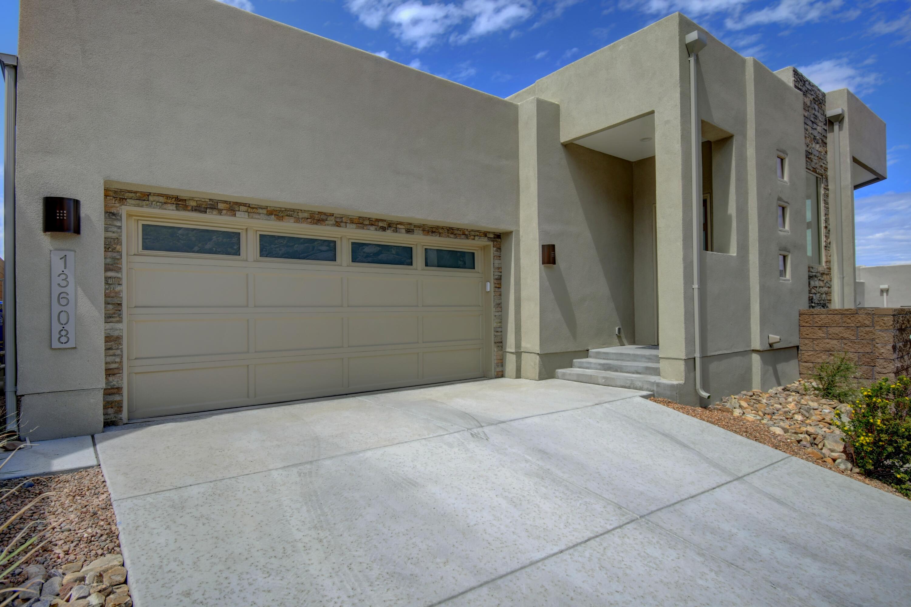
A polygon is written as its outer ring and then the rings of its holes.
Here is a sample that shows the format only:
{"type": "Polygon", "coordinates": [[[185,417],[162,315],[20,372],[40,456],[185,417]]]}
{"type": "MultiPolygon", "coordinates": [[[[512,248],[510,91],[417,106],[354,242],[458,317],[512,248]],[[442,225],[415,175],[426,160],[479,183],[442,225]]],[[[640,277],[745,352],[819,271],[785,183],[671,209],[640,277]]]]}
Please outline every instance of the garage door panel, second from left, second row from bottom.
{"type": "Polygon", "coordinates": [[[255,320],[256,351],[342,348],[341,316],[270,316],[255,320]]]}

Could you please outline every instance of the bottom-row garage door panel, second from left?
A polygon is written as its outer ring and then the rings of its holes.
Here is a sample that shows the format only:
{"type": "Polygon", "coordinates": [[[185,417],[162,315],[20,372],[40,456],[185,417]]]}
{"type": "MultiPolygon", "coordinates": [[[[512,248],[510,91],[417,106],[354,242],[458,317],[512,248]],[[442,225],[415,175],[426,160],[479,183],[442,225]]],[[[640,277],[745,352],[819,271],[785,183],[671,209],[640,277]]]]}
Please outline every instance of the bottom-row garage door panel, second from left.
{"type": "Polygon", "coordinates": [[[344,391],[344,359],[298,360],[255,366],[256,398],[305,399],[344,391]]]}

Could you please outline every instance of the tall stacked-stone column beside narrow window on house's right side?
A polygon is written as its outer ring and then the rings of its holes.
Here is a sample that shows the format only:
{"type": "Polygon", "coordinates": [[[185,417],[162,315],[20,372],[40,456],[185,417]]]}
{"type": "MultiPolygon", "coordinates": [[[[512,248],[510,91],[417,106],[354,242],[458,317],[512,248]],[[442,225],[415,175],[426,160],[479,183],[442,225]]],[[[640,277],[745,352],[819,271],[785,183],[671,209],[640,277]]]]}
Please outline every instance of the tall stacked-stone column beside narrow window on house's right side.
{"type": "MultiPolygon", "coordinates": [[[[824,266],[807,268],[810,287],[810,308],[828,308],[832,305],[832,241],[829,233],[829,166],[827,137],[828,119],[825,117],[825,93],[806,76],[792,68],[793,87],[804,94],[804,140],[806,142],[806,169],[822,179],[823,207],[823,256],[824,266]]],[[[792,204],[792,221],[802,217],[804,201],[792,204]],[[794,210],[800,209],[799,213],[794,210]]]]}

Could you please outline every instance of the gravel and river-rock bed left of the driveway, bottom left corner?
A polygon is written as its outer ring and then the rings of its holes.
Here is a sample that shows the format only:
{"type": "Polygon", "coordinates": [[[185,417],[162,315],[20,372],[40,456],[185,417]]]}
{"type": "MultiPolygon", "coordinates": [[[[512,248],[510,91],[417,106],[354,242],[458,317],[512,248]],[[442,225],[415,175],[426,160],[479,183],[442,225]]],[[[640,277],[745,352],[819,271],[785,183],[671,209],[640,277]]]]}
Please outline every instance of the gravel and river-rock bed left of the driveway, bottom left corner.
{"type": "MultiPolygon", "coordinates": [[[[0,588],[25,587],[31,582],[30,592],[12,604],[130,607],[117,519],[101,469],[0,481],[0,491],[23,482],[22,487],[0,502],[0,521],[38,496],[44,497],[0,531],[0,542],[6,546],[29,522],[36,521],[34,529],[44,531],[47,541],[23,567],[0,580],[0,588]]],[[[3,600],[0,598],[0,602],[3,600]]]]}

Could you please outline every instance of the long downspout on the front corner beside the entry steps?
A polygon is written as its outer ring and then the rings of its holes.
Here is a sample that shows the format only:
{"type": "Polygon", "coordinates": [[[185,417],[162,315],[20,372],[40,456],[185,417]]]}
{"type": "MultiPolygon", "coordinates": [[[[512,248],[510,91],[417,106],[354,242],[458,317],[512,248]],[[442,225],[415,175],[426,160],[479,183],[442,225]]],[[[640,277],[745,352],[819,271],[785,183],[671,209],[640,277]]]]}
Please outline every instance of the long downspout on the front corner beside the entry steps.
{"type": "Polygon", "coordinates": [[[700,271],[702,263],[702,123],[699,118],[699,107],[696,95],[696,54],[708,43],[705,34],[700,31],[686,36],[686,49],[690,53],[690,131],[692,160],[692,315],[693,315],[693,353],[696,363],[696,392],[701,398],[709,399],[711,394],[702,389],[702,307],[699,297],[700,271]]]}

